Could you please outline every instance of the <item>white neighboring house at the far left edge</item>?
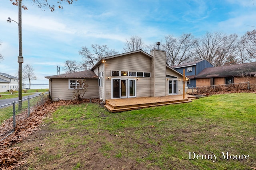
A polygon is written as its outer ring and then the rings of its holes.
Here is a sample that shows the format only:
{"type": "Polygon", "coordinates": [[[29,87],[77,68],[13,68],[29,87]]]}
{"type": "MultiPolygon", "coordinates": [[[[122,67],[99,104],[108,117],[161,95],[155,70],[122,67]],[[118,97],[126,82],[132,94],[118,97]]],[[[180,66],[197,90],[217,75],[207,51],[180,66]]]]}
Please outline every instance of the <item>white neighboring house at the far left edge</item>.
{"type": "Polygon", "coordinates": [[[18,78],[9,74],[0,72],[0,92],[7,92],[8,90],[18,90],[18,78]]]}

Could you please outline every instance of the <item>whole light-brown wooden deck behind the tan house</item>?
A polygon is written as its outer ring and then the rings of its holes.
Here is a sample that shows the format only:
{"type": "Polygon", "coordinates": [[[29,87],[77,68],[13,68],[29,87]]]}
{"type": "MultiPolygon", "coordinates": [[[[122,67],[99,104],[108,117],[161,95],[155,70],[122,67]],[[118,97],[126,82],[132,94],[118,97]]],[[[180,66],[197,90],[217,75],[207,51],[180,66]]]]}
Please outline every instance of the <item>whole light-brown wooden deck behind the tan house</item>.
{"type": "Polygon", "coordinates": [[[108,99],[104,106],[111,112],[118,112],[143,109],[152,106],[187,103],[191,102],[192,99],[198,98],[191,95],[185,95],[185,98],[183,99],[183,95],[172,95],[163,97],[108,99]]]}

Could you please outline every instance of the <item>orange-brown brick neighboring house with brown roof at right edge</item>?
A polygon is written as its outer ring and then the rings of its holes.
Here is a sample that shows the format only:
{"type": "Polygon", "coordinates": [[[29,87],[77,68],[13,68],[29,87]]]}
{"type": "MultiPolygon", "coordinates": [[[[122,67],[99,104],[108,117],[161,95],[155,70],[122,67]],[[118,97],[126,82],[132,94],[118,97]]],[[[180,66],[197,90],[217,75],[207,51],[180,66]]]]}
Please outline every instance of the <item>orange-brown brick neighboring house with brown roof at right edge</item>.
{"type": "Polygon", "coordinates": [[[256,84],[256,63],[205,68],[196,77],[196,86],[248,82],[256,84]]]}

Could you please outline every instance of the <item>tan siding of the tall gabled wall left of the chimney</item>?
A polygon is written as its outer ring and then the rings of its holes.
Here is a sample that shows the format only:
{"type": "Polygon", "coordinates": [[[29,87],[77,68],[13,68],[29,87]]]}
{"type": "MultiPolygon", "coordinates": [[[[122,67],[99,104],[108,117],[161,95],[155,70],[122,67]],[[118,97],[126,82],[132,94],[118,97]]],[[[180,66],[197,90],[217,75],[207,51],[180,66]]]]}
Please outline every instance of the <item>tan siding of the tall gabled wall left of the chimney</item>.
{"type": "MultiPolygon", "coordinates": [[[[111,70],[115,71],[134,71],[134,72],[150,72],[151,73],[151,59],[143,55],[142,53],[134,53],[130,55],[124,55],[112,59],[106,60],[105,64],[105,80],[106,80],[106,99],[111,98],[111,80],[112,78],[130,78],[136,79],[136,77],[129,76],[111,76],[111,70]],[[108,79],[110,77],[110,79],[108,79]]],[[[151,96],[151,79],[148,77],[139,77],[136,80],[136,97],[151,96]]]]}

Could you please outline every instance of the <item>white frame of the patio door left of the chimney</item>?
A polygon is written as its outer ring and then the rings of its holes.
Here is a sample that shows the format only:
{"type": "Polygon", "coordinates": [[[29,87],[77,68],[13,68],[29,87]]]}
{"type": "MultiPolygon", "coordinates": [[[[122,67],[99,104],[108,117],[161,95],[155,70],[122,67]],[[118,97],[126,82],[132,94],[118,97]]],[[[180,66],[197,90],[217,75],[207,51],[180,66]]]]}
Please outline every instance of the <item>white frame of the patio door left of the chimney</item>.
{"type": "MultiPolygon", "coordinates": [[[[117,90],[117,89],[115,89],[117,90]]],[[[134,98],[136,97],[136,79],[130,79],[130,78],[112,78],[111,79],[111,99],[120,99],[120,98],[134,98]],[[119,96],[115,97],[114,94],[114,86],[113,86],[113,80],[119,80],[119,96]],[[126,81],[126,96],[122,96],[122,80],[126,81]],[[130,80],[134,80],[134,88],[135,88],[135,96],[130,96],[130,80]]]]}

